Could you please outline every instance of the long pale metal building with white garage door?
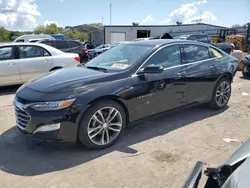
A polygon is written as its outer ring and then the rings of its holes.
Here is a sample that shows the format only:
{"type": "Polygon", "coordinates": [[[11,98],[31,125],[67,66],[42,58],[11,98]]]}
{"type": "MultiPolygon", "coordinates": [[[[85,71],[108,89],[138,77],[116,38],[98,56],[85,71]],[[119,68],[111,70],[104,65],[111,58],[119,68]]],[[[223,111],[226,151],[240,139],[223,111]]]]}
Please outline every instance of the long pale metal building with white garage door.
{"type": "Polygon", "coordinates": [[[163,33],[169,33],[171,36],[192,34],[195,32],[208,35],[218,35],[220,29],[226,27],[199,23],[182,25],[109,25],[91,32],[91,42],[94,45],[112,44],[121,41],[131,41],[136,38],[157,37],[163,33]]]}

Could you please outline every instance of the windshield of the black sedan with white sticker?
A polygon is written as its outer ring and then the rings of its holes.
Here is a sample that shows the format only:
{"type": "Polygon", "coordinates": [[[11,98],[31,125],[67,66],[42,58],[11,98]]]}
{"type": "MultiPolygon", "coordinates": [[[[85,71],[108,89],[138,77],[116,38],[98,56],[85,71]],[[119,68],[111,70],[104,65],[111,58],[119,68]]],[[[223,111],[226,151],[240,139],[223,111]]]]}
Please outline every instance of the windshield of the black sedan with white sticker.
{"type": "Polygon", "coordinates": [[[144,45],[119,45],[92,59],[86,66],[100,67],[107,70],[123,70],[135,64],[151,49],[152,47],[144,45]]]}

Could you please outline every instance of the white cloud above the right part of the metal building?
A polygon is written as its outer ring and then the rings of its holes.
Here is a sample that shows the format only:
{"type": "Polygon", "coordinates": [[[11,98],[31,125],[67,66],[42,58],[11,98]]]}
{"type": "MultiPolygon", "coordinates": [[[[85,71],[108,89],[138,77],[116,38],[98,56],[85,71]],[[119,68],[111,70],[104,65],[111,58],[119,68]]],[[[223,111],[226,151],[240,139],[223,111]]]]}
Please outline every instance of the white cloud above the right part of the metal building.
{"type": "Polygon", "coordinates": [[[207,0],[194,1],[191,3],[182,4],[180,7],[172,11],[168,18],[161,24],[174,24],[177,21],[183,23],[191,23],[192,20],[202,19],[202,21],[216,20],[215,15],[210,11],[205,11],[199,14],[199,8],[202,4],[206,4],[207,0]]]}

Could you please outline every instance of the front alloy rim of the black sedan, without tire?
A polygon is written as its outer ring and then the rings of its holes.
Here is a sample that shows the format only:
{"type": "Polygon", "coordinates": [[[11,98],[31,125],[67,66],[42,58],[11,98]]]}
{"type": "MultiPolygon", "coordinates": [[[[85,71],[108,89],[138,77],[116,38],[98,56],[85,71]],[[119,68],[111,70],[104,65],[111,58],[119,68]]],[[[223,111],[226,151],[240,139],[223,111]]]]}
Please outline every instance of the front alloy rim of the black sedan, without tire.
{"type": "Polygon", "coordinates": [[[94,113],[88,123],[88,137],[96,145],[107,145],[122,129],[122,115],[114,107],[104,107],[94,113]]]}

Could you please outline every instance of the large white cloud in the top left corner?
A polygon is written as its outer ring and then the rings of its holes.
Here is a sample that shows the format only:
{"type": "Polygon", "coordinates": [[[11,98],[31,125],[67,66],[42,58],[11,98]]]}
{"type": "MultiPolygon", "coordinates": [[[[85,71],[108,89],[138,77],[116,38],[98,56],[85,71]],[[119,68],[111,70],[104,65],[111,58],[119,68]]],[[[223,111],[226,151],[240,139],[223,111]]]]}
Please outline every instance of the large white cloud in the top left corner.
{"type": "Polygon", "coordinates": [[[0,0],[0,25],[7,29],[33,29],[40,15],[35,0],[0,0]]]}

